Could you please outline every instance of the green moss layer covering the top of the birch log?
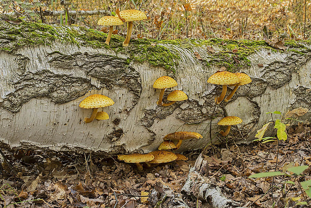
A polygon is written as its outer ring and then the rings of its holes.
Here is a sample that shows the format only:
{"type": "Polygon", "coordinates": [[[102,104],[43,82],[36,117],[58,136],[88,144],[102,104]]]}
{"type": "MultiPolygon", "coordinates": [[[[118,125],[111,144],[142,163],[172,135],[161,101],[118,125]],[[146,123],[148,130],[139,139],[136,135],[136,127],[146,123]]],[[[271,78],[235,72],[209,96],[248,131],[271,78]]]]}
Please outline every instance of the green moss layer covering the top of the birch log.
{"type": "MultiPolygon", "coordinates": [[[[195,52],[198,48],[213,47],[215,52],[204,54],[200,59],[206,65],[225,66],[233,70],[242,66],[249,66],[248,55],[262,48],[278,50],[269,46],[265,41],[250,40],[223,40],[219,38],[209,40],[153,40],[131,39],[129,47],[122,47],[123,36],[113,35],[110,45],[104,42],[107,34],[93,29],[75,26],[46,25],[40,23],[21,21],[9,16],[0,16],[0,50],[13,52],[24,46],[50,45],[53,41],[69,42],[78,46],[90,46],[113,50],[116,54],[126,54],[128,60],[138,62],[148,61],[154,66],[162,66],[175,72],[179,53],[174,47],[180,46],[185,50],[195,52]]],[[[285,41],[287,50],[302,55],[309,52],[306,47],[311,41],[285,41]]],[[[207,50],[209,51],[209,50],[207,50]]],[[[281,50],[278,50],[281,51],[281,50]]],[[[282,51],[281,51],[282,52],[282,51]]]]}

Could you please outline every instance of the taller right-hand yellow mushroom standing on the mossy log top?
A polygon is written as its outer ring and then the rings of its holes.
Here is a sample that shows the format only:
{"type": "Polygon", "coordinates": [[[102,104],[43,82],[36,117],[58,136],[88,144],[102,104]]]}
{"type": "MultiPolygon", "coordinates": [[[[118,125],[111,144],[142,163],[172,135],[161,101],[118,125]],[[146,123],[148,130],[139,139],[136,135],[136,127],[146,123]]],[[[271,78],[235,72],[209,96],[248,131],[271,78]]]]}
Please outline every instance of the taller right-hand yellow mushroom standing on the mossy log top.
{"type": "Polygon", "coordinates": [[[127,22],[127,34],[122,44],[124,47],[127,47],[129,44],[130,36],[132,34],[133,21],[145,20],[147,19],[147,16],[139,10],[123,10],[119,12],[117,9],[115,13],[117,14],[117,17],[120,18],[123,22],[127,22]]]}

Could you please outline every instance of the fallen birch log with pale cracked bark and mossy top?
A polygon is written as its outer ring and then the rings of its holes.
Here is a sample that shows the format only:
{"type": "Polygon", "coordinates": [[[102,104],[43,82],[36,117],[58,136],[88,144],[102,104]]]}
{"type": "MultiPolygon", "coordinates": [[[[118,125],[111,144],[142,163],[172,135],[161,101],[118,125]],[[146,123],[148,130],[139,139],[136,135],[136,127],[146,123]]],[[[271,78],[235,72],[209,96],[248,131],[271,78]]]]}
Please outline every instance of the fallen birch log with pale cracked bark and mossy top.
{"type": "MultiPolygon", "coordinates": [[[[173,132],[203,136],[184,141],[180,151],[185,151],[209,143],[209,123],[215,116],[214,140],[224,140],[218,134],[219,119],[238,116],[243,123],[232,128],[229,141],[250,142],[270,120],[266,112],[311,108],[308,42],[287,41],[283,52],[264,41],[137,39],[124,48],[124,37],[113,35],[110,46],[105,40],[106,34],[82,27],[0,16],[0,141],[125,154],[155,150],[173,132]],[[240,86],[212,115],[221,87],[207,79],[222,66],[248,74],[252,82],[240,86]],[[179,89],[189,99],[158,106],[159,90],[152,85],[164,75],[178,82],[165,98],[179,89]],[[78,105],[90,94],[114,100],[105,109],[109,120],[83,123],[89,111],[78,105]]],[[[311,121],[311,112],[299,120],[311,121]]]]}

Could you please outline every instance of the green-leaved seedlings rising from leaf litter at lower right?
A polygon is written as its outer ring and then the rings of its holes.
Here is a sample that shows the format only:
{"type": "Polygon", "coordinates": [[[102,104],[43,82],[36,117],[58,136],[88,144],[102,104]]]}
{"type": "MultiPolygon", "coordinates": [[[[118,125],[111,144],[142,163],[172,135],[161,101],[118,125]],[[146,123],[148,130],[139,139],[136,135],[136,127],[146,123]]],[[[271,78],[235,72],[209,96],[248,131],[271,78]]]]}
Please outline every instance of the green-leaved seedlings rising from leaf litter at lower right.
{"type": "MultiPolygon", "coordinates": [[[[299,200],[301,200],[300,196],[286,198],[286,194],[297,183],[296,178],[304,170],[306,170],[308,168],[308,166],[307,165],[303,165],[303,166],[297,166],[297,167],[289,167],[286,170],[289,173],[284,173],[284,172],[276,171],[277,162],[278,162],[278,154],[279,154],[279,141],[280,140],[283,140],[283,141],[287,140],[287,134],[285,132],[286,125],[283,123],[283,121],[285,119],[290,119],[290,120],[294,120],[294,119],[291,119],[291,118],[285,118],[284,119],[284,117],[282,117],[281,120],[277,119],[277,120],[274,121],[272,115],[280,115],[281,116],[280,112],[274,111],[274,112],[268,112],[266,114],[270,114],[271,115],[272,122],[269,122],[269,123],[263,125],[263,127],[260,130],[258,130],[257,134],[255,135],[255,138],[257,138],[257,139],[255,139],[253,141],[258,141],[261,144],[277,141],[277,154],[276,154],[275,168],[274,168],[274,171],[272,171],[272,172],[256,173],[256,174],[250,175],[249,178],[273,177],[272,178],[272,185],[271,185],[271,187],[270,187],[270,189],[268,191],[271,191],[271,196],[272,196],[272,201],[273,201],[273,206],[274,206],[274,199],[273,199],[273,187],[275,187],[273,185],[274,177],[275,176],[284,176],[283,184],[286,184],[286,183],[287,184],[291,184],[290,188],[286,192],[283,191],[283,198],[285,198],[285,207],[288,207],[289,206],[288,205],[289,200],[292,200],[292,201],[299,201],[299,200]],[[277,130],[276,131],[276,137],[275,136],[274,137],[263,137],[271,123],[274,124],[274,129],[277,130]],[[288,178],[289,178],[289,180],[288,180],[288,178]],[[291,178],[293,178],[293,180],[290,180],[291,178]]],[[[295,120],[295,121],[298,121],[298,120],[295,120]]],[[[298,121],[298,122],[301,122],[301,121],[298,121]]],[[[302,191],[302,189],[303,189],[304,192],[306,193],[306,195],[311,198],[311,180],[306,180],[306,181],[299,182],[298,183],[298,187],[301,189],[301,193],[303,192],[302,191]]],[[[310,204],[309,204],[309,200],[308,199],[306,199],[305,201],[300,201],[300,202],[296,203],[296,205],[298,205],[298,204],[301,204],[301,205],[302,204],[307,204],[309,207],[311,207],[310,204]]]]}

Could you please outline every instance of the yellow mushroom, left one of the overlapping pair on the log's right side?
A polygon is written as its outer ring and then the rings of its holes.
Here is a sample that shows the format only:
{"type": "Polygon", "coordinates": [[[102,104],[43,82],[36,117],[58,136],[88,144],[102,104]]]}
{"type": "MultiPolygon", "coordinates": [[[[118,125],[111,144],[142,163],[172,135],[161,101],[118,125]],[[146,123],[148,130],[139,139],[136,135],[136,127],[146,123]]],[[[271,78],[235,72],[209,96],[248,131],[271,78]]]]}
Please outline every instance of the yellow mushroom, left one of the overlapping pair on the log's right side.
{"type": "Polygon", "coordinates": [[[216,103],[219,104],[226,96],[227,85],[239,83],[238,76],[229,71],[218,71],[207,80],[208,83],[222,85],[221,95],[217,98],[216,103]]]}

